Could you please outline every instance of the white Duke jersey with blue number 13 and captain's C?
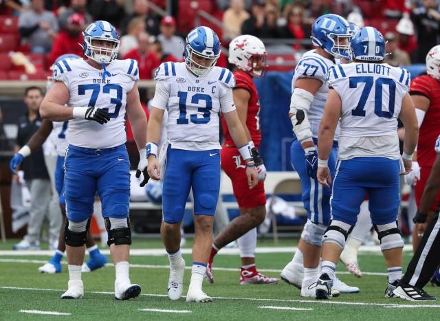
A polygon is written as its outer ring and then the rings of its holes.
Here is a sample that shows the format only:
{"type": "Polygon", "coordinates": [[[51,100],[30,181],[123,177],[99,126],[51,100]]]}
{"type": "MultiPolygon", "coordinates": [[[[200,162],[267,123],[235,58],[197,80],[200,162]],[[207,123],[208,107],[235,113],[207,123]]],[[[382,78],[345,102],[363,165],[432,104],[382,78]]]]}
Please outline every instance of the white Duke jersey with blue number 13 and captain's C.
{"type": "Polygon", "coordinates": [[[168,111],[167,139],[177,149],[203,151],[219,149],[219,112],[235,109],[234,75],[213,67],[197,77],[185,63],[162,63],[155,73],[156,91],[151,105],[168,111]]]}

